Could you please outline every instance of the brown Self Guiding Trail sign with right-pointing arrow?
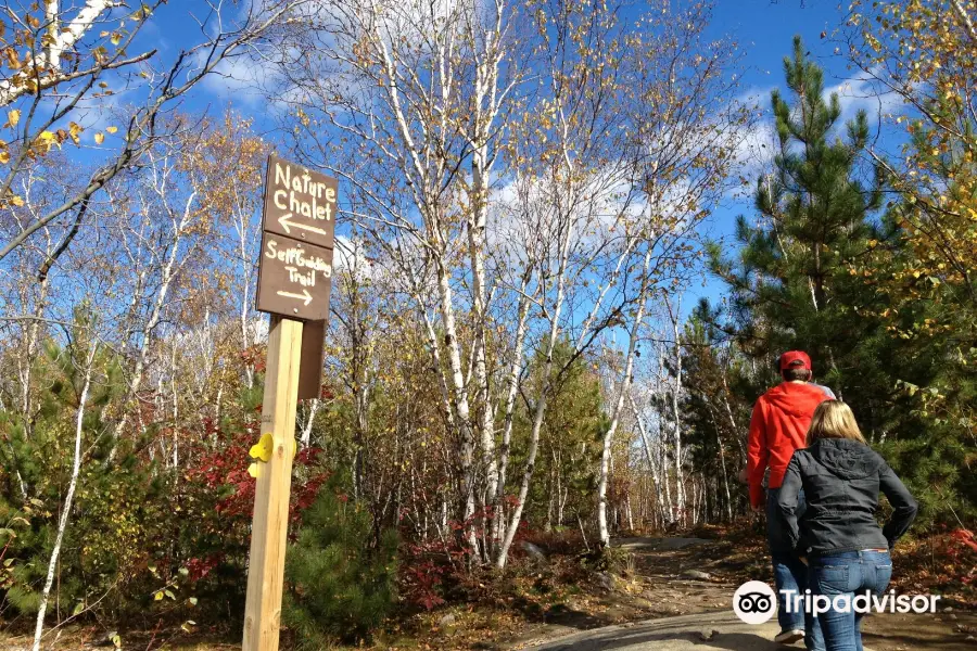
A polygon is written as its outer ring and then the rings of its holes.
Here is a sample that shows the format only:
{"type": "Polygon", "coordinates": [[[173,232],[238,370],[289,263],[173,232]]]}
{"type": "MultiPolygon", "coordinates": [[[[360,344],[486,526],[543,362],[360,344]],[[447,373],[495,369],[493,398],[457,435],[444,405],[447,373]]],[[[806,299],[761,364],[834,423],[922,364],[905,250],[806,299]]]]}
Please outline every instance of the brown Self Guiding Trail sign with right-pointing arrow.
{"type": "Polygon", "coordinates": [[[258,265],[257,309],[302,321],[329,317],[332,250],[266,232],[258,265]]]}

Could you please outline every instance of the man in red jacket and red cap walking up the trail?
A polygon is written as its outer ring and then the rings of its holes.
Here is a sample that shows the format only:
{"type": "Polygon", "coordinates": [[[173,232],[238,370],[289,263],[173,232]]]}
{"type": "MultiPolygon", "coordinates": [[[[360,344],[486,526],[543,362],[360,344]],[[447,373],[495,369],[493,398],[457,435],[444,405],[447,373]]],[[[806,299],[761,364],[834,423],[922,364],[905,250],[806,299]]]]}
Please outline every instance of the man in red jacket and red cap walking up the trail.
{"type": "MultiPolygon", "coordinates": [[[[803,613],[787,612],[784,590],[803,595],[808,588],[808,569],[794,551],[785,527],[776,512],[777,493],[794,450],[807,447],[804,441],[814,409],[834,398],[832,390],[811,382],[811,358],[802,350],[781,355],[777,367],[784,382],[760,396],[750,419],[747,450],[747,476],[750,485],[750,506],[760,512],[766,502],[766,536],[773,558],[774,579],[781,608],[777,621],[781,633],[777,642],[790,644],[804,638],[812,651],[824,649],[817,621],[803,613]],[[764,492],[764,478],[766,490],[764,492]]],[[[798,499],[798,518],[803,514],[803,492],[798,499]]]]}

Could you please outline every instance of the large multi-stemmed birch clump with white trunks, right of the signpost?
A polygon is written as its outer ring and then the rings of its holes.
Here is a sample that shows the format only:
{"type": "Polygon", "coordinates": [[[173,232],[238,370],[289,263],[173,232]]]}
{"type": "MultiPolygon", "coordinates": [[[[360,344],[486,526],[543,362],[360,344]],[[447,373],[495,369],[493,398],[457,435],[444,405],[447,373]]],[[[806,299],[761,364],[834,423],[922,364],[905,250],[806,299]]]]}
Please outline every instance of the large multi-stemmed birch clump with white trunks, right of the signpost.
{"type": "Polygon", "coordinates": [[[553,352],[566,337],[578,359],[689,255],[684,217],[660,206],[685,201],[695,219],[705,210],[696,201],[715,184],[712,161],[725,164],[734,119],[707,108],[735,86],[720,81],[735,50],[719,43],[693,59],[707,5],[672,15],[656,4],[640,28],[613,7],[535,1],[335,1],[297,15],[305,24],[269,86],[306,162],[347,188],[341,217],[414,301],[456,442],[461,538],[504,565],[566,371],[553,352]],[[658,36],[644,40],[646,28],[658,36]],[[504,202],[496,182],[509,189],[504,202]],[[687,192],[672,190],[682,183],[687,192]],[[650,194],[658,214],[642,224],[637,204],[650,194]],[[492,349],[499,337],[503,356],[492,349]],[[513,472],[531,353],[546,381],[528,396],[526,460],[513,472]]]}

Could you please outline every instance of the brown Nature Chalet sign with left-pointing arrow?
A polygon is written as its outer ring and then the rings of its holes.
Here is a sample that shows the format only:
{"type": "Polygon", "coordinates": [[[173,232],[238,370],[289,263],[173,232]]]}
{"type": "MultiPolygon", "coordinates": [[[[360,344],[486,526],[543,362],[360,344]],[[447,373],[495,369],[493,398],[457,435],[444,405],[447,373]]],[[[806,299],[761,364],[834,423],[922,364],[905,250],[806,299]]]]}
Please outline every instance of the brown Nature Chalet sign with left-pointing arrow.
{"type": "Polygon", "coordinates": [[[263,230],[332,248],[339,182],[274,155],[266,174],[263,230]]]}

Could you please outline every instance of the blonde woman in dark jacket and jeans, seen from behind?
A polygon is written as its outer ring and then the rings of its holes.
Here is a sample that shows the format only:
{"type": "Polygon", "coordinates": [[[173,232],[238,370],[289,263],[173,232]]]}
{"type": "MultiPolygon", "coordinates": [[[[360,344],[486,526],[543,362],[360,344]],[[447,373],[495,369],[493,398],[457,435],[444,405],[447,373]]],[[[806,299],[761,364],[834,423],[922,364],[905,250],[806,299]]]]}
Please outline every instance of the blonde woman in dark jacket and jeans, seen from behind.
{"type": "Polygon", "coordinates": [[[820,615],[827,651],[862,651],[862,614],[851,608],[852,599],[885,592],[892,576],[889,552],[916,516],[916,501],[865,443],[845,403],[817,407],[807,443],[790,459],[777,506],[798,554],[808,558],[811,591],[832,600],[820,615]],[[808,506],[798,522],[801,488],[808,506]],[[875,518],[879,492],[894,509],[885,527],[875,518]]]}

